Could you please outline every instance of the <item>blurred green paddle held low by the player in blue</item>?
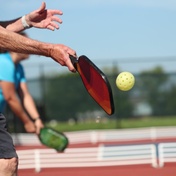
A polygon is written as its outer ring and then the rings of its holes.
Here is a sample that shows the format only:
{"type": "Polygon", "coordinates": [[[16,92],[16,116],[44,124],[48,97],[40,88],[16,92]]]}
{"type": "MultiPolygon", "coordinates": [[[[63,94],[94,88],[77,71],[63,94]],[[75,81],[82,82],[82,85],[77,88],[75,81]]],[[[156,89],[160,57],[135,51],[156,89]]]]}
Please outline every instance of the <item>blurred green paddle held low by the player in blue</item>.
{"type": "Polygon", "coordinates": [[[63,133],[52,128],[42,128],[40,130],[39,139],[42,144],[56,149],[58,152],[63,152],[68,146],[68,138],[63,133]]]}

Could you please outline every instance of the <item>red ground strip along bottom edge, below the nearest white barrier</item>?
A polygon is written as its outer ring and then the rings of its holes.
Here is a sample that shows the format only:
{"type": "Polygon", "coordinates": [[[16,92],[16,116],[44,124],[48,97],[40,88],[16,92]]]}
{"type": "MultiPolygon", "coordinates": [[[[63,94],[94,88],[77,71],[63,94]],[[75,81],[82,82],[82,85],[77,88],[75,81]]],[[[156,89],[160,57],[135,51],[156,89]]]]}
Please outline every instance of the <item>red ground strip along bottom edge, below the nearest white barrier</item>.
{"type": "Polygon", "coordinates": [[[54,168],[42,169],[40,173],[20,170],[19,176],[176,176],[176,164],[166,164],[163,168],[153,168],[150,165],[54,168]]]}

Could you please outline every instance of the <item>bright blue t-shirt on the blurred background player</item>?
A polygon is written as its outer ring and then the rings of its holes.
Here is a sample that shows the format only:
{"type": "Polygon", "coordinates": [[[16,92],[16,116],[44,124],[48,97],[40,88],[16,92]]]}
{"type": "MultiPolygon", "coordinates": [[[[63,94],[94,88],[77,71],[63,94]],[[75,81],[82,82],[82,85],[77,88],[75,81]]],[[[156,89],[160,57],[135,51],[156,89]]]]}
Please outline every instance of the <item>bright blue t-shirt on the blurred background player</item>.
{"type": "MultiPolygon", "coordinates": [[[[0,54],[0,81],[7,81],[15,84],[16,90],[21,82],[26,82],[23,66],[14,64],[9,53],[0,54]]],[[[0,112],[3,112],[6,105],[0,86],[0,112]]]]}

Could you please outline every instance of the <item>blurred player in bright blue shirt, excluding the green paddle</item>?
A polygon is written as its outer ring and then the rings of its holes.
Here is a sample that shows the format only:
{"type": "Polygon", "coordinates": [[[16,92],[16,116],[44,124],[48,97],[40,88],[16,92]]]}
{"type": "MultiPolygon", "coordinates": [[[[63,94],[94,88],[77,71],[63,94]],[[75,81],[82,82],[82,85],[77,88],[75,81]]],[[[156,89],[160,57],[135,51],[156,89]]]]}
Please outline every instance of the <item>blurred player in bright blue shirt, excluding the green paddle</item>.
{"type": "MultiPolygon", "coordinates": [[[[27,37],[25,33],[21,35],[27,37]]],[[[3,112],[8,104],[14,114],[22,120],[27,132],[36,131],[39,134],[43,123],[28,91],[24,69],[20,63],[28,57],[28,54],[15,52],[0,54],[0,112],[3,112]],[[30,118],[35,120],[35,123],[30,118]]]]}

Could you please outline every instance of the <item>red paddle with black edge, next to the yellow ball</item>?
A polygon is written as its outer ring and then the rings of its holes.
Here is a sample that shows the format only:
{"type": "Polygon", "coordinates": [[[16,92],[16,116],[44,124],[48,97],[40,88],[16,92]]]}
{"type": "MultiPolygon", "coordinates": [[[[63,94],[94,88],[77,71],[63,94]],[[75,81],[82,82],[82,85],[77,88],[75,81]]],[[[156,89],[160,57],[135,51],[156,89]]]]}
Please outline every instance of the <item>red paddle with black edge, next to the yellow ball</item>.
{"type": "Polygon", "coordinates": [[[114,113],[114,103],[111,86],[106,75],[86,56],[70,59],[79,73],[85,88],[92,98],[108,114],[114,113]]]}

